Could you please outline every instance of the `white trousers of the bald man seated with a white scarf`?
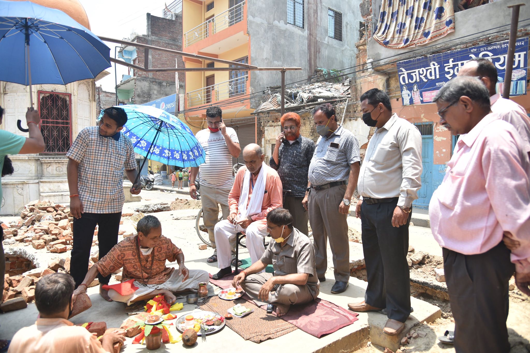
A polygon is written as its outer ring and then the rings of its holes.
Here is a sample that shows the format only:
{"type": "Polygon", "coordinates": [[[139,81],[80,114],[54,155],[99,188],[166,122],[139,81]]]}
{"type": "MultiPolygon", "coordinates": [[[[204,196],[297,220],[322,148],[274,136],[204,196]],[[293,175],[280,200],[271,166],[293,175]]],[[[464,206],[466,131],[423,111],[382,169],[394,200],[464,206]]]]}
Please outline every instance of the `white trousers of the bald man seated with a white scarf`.
{"type": "Polygon", "coordinates": [[[246,229],[234,224],[228,220],[217,222],[214,228],[215,245],[217,246],[217,267],[225,268],[231,266],[232,261],[232,247],[230,241],[235,238],[236,233],[245,233],[246,248],[249,249],[250,259],[252,264],[261,259],[265,247],[263,246],[263,239],[267,235],[267,228],[259,229],[258,225],[262,226],[263,222],[256,221],[250,223],[246,229]]]}

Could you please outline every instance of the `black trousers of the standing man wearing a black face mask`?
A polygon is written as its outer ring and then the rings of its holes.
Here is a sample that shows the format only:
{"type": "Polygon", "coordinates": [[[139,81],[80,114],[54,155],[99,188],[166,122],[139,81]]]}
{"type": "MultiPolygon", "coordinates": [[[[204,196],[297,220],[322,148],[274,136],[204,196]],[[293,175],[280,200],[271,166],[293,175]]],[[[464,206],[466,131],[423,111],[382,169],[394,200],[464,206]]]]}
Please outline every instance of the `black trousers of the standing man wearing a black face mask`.
{"type": "Polygon", "coordinates": [[[361,238],[368,286],[365,302],[386,307],[388,319],[405,322],[410,315],[409,213],[407,224],[392,227],[398,201],[361,204],[361,238]]]}

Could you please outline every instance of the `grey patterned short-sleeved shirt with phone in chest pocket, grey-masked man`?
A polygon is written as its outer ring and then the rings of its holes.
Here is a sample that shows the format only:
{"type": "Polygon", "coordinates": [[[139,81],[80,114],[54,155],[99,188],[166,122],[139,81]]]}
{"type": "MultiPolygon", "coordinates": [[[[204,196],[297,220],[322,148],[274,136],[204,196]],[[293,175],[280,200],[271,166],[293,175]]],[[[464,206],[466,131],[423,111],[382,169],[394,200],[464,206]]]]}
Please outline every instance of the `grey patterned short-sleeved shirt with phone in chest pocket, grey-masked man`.
{"type": "Polygon", "coordinates": [[[309,181],[313,186],[348,180],[350,165],[360,161],[359,141],[351,131],[339,126],[330,137],[319,137],[309,166],[309,181]],[[337,147],[330,146],[338,144],[337,147]]]}

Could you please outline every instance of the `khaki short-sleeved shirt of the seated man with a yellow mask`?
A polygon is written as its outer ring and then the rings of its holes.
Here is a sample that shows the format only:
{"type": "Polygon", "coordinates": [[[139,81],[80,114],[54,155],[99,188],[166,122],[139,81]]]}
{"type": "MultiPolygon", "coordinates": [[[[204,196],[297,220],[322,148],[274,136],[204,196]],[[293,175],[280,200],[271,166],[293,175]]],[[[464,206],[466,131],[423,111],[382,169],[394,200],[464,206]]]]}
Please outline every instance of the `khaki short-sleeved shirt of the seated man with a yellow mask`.
{"type": "Polygon", "coordinates": [[[308,274],[306,286],[313,299],[319,295],[320,282],[316,276],[315,250],[309,238],[298,229],[293,228],[283,247],[271,239],[261,261],[263,264],[272,265],[275,276],[308,274]]]}

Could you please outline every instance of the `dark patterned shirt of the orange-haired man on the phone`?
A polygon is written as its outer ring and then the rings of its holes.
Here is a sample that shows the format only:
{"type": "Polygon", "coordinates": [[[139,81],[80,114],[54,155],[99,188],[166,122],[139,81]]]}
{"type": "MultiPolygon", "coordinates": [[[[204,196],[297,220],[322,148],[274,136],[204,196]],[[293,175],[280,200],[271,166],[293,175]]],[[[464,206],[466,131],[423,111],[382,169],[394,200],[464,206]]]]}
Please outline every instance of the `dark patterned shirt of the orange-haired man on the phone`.
{"type": "Polygon", "coordinates": [[[315,143],[300,135],[292,144],[287,139],[281,143],[278,153],[279,164],[276,164],[272,157],[270,158],[269,165],[278,171],[284,190],[291,191],[286,196],[305,196],[307,173],[314,151],[315,143]]]}

